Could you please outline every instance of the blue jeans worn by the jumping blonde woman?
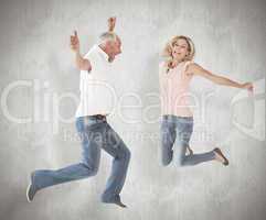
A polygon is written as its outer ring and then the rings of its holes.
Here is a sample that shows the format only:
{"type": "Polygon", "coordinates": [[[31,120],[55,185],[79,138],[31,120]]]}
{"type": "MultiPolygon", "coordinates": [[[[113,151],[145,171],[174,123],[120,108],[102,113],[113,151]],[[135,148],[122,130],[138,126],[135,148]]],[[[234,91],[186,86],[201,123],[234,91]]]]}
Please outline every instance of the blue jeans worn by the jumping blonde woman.
{"type": "Polygon", "coordinates": [[[162,164],[169,165],[173,157],[173,144],[178,138],[179,166],[196,165],[203,162],[212,161],[215,157],[213,151],[202,154],[185,155],[190,138],[193,132],[193,117],[162,116],[161,121],[161,154],[162,164]]]}

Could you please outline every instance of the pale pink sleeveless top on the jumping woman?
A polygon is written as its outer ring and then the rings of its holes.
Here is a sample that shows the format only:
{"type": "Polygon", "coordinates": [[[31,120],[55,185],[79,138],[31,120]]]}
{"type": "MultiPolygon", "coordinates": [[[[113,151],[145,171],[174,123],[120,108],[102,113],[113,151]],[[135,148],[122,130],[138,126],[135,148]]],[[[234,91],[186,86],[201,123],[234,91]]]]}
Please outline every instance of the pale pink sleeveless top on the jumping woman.
{"type": "Polygon", "coordinates": [[[192,62],[182,62],[173,69],[169,69],[163,63],[160,64],[160,97],[161,97],[161,114],[172,114],[178,117],[193,117],[189,108],[189,84],[192,75],[185,74],[188,64],[192,62]]]}

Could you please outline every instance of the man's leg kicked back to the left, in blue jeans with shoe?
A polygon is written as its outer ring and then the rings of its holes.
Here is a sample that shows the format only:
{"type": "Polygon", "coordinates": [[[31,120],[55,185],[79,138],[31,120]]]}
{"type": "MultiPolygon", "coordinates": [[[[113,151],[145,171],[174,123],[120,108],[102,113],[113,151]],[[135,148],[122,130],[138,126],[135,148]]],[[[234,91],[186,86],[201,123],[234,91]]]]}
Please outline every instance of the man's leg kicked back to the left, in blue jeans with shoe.
{"type": "MultiPolygon", "coordinates": [[[[33,196],[35,191],[42,188],[96,175],[99,166],[100,145],[103,141],[98,138],[95,140],[95,132],[88,130],[83,120],[77,120],[76,125],[82,139],[82,162],[55,170],[38,169],[33,172],[31,175],[33,196]]],[[[97,132],[97,134],[99,134],[99,132],[97,132]]],[[[30,188],[28,190],[28,199],[31,201],[33,196],[29,194],[30,188]]]]}

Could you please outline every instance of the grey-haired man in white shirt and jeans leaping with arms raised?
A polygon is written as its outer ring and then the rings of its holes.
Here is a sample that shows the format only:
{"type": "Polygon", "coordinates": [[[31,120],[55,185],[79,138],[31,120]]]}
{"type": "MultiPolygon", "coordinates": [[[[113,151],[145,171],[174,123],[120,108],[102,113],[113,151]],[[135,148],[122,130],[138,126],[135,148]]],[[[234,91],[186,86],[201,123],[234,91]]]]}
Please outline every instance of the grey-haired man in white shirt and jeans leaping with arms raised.
{"type": "Polygon", "coordinates": [[[100,148],[104,148],[114,161],[102,201],[126,207],[119,194],[125,183],[130,151],[106,120],[113,107],[110,90],[107,89],[108,79],[113,77],[111,62],[121,53],[120,38],[113,32],[115,23],[116,18],[108,20],[108,32],[100,35],[99,45],[94,45],[84,57],[79,53],[76,31],[71,36],[71,47],[75,52],[76,65],[81,69],[81,102],[75,117],[83,146],[82,162],[56,170],[32,172],[26,191],[29,202],[45,187],[96,175],[100,148]]]}

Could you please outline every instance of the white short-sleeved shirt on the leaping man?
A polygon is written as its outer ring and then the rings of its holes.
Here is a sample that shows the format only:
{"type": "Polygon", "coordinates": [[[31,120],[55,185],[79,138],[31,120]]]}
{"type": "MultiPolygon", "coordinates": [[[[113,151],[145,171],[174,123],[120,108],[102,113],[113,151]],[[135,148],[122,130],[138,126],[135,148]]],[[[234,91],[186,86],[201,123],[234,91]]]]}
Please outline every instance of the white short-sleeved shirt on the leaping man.
{"type": "Polygon", "coordinates": [[[110,84],[114,76],[108,55],[98,45],[94,45],[84,58],[91,62],[92,70],[81,70],[81,100],[75,117],[109,114],[116,97],[110,84]]]}

